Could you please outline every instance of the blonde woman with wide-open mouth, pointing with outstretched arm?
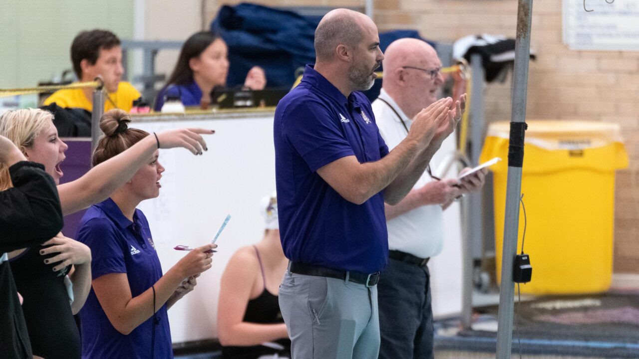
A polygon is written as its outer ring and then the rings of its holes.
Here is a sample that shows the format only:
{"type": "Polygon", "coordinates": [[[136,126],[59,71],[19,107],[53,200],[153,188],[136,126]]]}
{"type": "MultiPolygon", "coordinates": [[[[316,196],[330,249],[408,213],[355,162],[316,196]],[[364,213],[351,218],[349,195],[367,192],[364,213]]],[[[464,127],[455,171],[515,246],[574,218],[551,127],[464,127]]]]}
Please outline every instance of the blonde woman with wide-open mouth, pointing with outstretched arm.
{"type": "MultiPolygon", "coordinates": [[[[63,215],[104,201],[129,181],[158,148],[187,148],[194,154],[206,149],[200,134],[211,130],[169,130],[147,136],[134,146],[75,181],[59,185],[66,144],[58,137],[53,115],[40,109],[20,109],[0,116],[0,135],[10,139],[27,160],[44,165],[56,183],[63,215]]],[[[8,167],[0,164],[0,190],[13,187],[8,167]]],[[[80,337],[73,321],[91,286],[91,252],[86,245],[62,233],[43,246],[10,252],[16,286],[24,297],[22,310],[35,357],[77,359],[80,337]],[[71,304],[70,301],[72,300],[71,304]]]]}

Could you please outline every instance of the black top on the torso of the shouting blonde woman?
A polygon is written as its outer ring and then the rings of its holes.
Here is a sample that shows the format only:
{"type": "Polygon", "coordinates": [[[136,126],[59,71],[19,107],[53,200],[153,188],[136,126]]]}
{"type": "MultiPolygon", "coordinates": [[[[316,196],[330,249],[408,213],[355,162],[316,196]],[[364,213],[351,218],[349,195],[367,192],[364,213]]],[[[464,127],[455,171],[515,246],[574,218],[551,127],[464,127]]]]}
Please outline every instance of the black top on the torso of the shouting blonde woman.
{"type": "Polygon", "coordinates": [[[65,275],[71,266],[57,272],[56,264],[44,260],[58,253],[41,256],[44,246],[28,248],[9,261],[15,286],[22,294],[22,312],[27,323],[33,355],[46,359],[79,359],[80,333],[73,320],[65,275]]]}

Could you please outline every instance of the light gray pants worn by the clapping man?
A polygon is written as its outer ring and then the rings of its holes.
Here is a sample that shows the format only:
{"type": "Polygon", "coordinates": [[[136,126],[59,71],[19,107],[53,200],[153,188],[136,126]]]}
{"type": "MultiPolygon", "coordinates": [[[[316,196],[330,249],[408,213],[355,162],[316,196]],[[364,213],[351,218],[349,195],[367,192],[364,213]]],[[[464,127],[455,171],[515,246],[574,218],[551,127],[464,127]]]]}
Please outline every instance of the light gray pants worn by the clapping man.
{"type": "Polygon", "coordinates": [[[279,305],[293,359],[376,359],[377,288],[286,271],[279,305]]]}

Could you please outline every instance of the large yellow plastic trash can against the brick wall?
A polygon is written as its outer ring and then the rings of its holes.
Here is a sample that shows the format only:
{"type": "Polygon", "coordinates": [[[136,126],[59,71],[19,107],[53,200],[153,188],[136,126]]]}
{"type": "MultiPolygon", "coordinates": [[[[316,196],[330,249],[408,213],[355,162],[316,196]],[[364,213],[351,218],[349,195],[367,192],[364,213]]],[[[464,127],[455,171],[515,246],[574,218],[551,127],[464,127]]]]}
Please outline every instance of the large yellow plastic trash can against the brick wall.
{"type": "MultiPolygon", "coordinates": [[[[481,162],[494,174],[497,280],[500,281],[508,176],[508,122],[489,125],[481,162]]],[[[615,170],[628,159],[619,125],[585,121],[528,121],[521,192],[528,223],[528,294],[606,291],[612,280],[615,170]]],[[[524,216],[520,207],[517,252],[524,216]]]]}

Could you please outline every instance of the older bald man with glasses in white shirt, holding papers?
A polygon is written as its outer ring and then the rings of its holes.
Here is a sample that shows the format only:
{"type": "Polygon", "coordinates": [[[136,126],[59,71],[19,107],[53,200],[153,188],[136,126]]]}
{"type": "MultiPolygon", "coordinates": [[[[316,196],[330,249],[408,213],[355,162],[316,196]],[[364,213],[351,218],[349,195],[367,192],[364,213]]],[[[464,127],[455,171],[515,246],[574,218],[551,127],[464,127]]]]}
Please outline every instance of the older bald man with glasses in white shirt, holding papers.
{"type": "MultiPolygon", "coordinates": [[[[373,112],[390,149],[408,134],[413,118],[437,101],[444,82],[435,49],[422,40],[404,38],[389,45],[383,61],[380,97],[373,112]]],[[[459,99],[463,109],[466,95],[459,99]]],[[[462,111],[456,111],[461,118],[462,111]]],[[[431,142],[435,153],[444,138],[431,142]]],[[[464,169],[462,172],[468,171],[464,169]]],[[[396,205],[385,204],[389,264],[378,282],[380,358],[433,358],[433,310],[426,264],[443,247],[442,211],[461,195],[484,184],[485,172],[440,179],[430,166],[396,205]]]]}

